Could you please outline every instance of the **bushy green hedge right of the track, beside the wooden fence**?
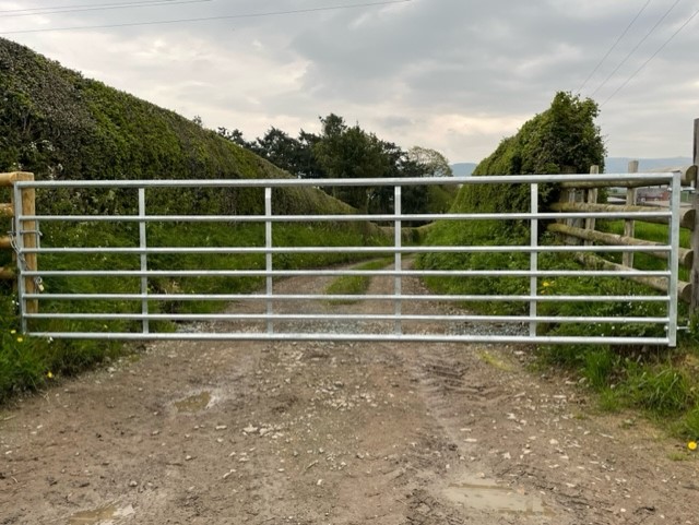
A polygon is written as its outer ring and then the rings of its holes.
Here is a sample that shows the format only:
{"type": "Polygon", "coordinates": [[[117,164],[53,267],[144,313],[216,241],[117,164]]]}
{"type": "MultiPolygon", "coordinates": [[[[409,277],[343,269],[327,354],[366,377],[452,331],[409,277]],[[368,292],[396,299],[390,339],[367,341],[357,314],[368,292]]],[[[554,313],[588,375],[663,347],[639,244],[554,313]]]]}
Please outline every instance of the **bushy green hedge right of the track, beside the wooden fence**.
{"type": "MultiPolygon", "coordinates": [[[[474,176],[559,174],[589,171],[590,165],[604,163],[604,144],[594,124],[597,107],[592,100],[558,93],[549,109],[522,126],[514,136],[505,139],[497,150],[475,169],[474,176]]],[[[522,213],[531,210],[529,184],[464,184],[452,211],[455,213],[522,213]]],[[[540,208],[557,199],[553,184],[540,186],[540,208]]],[[[543,228],[542,228],[543,230],[543,228]]],[[[441,222],[431,227],[426,243],[435,246],[528,246],[529,223],[520,220],[441,222]]],[[[545,236],[542,243],[546,243],[545,236]]],[[[556,264],[554,260],[548,261],[556,264]]],[[[419,258],[420,267],[502,269],[529,267],[525,253],[431,253],[419,258]]],[[[570,264],[566,262],[564,264],[570,264]]],[[[522,293],[528,279],[513,277],[430,279],[442,293],[511,294],[522,293]]],[[[521,313],[525,305],[477,303],[472,307],[488,313],[521,313]]]]}

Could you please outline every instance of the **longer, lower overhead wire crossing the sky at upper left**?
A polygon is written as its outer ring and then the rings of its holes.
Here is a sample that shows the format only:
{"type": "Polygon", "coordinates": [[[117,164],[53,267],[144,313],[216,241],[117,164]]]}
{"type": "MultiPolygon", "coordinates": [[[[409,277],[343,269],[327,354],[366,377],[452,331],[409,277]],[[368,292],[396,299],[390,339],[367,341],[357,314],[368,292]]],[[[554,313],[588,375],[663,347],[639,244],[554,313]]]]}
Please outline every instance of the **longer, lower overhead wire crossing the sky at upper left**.
{"type": "Polygon", "coordinates": [[[0,32],[0,35],[20,35],[20,34],[27,34],[27,33],[47,33],[47,32],[58,32],[58,31],[111,29],[117,27],[135,27],[135,26],[144,26],[144,25],[183,24],[183,23],[190,23],[190,22],[213,22],[218,20],[235,20],[235,19],[258,19],[258,17],[265,17],[265,16],[283,16],[283,15],[289,15],[289,14],[317,13],[321,11],[339,11],[339,10],[359,9],[359,8],[374,8],[379,5],[407,3],[412,1],[413,0],[386,0],[381,2],[346,3],[341,5],[327,5],[327,7],[320,7],[320,8],[294,9],[288,11],[268,11],[268,12],[248,13],[248,14],[228,14],[228,15],[218,15],[218,16],[204,16],[199,19],[179,19],[179,20],[162,20],[162,21],[151,21],[151,22],[130,22],[130,23],[123,23],[123,24],[82,25],[82,26],[72,26],[72,27],[44,27],[40,29],[3,31],[3,32],[0,32]]]}

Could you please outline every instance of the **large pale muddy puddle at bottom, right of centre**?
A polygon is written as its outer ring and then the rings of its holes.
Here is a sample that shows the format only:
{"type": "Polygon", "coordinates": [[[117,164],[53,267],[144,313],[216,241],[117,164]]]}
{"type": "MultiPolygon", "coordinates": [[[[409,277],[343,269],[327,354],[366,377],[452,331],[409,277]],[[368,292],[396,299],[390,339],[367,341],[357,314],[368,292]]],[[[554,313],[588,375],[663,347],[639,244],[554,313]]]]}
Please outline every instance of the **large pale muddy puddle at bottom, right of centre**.
{"type": "Polygon", "coordinates": [[[528,515],[547,513],[540,498],[500,487],[487,479],[467,479],[460,484],[452,484],[445,494],[452,502],[477,511],[528,515]]]}

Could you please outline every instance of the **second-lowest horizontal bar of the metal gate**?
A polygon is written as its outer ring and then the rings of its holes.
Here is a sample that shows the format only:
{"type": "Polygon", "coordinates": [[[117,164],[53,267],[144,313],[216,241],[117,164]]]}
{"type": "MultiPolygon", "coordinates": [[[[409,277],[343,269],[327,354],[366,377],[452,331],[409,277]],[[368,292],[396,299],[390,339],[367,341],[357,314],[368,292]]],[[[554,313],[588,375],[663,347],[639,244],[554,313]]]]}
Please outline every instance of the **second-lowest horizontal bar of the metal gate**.
{"type": "Polygon", "coordinates": [[[325,313],[27,313],[27,319],[93,321],[462,321],[483,323],[667,323],[668,318],[594,318],[556,315],[413,315],[413,314],[325,314],[325,313]]]}

